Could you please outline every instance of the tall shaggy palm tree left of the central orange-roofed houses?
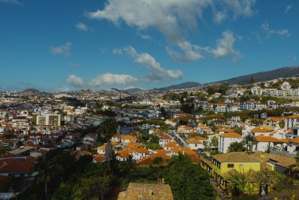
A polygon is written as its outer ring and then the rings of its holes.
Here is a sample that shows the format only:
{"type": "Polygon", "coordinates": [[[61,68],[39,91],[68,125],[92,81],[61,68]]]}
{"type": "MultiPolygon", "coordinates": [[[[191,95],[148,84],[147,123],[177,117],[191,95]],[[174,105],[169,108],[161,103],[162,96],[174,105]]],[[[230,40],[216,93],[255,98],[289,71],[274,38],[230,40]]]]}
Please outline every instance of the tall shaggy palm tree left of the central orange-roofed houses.
{"type": "Polygon", "coordinates": [[[108,163],[108,169],[110,169],[110,161],[113,157],[113,150],[111,145],[111,138],[116,133],[116,130],[118,128],[117,121],[115,119],[106,119],[101,125],[100,125],[100,132],[104,135],[105,139],[107,140],[106,143],[106,149],[105,149],[105,157],[106,161],[108,163]]]}

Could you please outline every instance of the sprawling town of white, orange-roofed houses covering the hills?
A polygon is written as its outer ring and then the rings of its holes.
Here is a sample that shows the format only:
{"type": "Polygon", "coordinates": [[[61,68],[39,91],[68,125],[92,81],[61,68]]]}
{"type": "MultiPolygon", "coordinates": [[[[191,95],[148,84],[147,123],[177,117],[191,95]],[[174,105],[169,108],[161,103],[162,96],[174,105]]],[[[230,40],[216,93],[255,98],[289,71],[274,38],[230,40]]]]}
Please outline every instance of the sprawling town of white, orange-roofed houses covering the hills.
{"type": "MultiPolygon", "coordinates": [[[[68,180],[77,180],[75,172],[96,171],[106,184],[99,186],[102,199],[135,200],[144,192],[148,199],[183,199],[184,187],[175,189],[178,181],[169,178],[178,176],[174,169],[183,170],[182,176],[186,173],[185,167],[173,164],[179,161],[190,163],[188,176],[193,176],[193,168],[205,174],[207,199],[267,196],[285,190],[290,198],[298,198],[293,192],[299,185],[296,80],[135,93],[117,89],[1,92],[0,185],[6,186],[10,177],[27,179],[22,186],[1,190],[0,199],[28,193],[32,199],[44,199],[44,194],[46,199],[47,195],[59,199],[62,189],[50,179],[43,181],[42,163],[64,166],[61,180],[52,168],[47,172],[64,187],[68,180]],[[123,179],[111,192],[116,171],[123,179]],[[155,184],[143,185],[134,179],[138,176],[155,184]],[[246,178],[241,188],[238,176],[246,178]],[[39,194],[32,192],[41,186],[39,194]]],[[[92,182],[91,177],[80,184],[92,182]]],[[[76,188],[73,184],[68,187],[76,188]]]]}

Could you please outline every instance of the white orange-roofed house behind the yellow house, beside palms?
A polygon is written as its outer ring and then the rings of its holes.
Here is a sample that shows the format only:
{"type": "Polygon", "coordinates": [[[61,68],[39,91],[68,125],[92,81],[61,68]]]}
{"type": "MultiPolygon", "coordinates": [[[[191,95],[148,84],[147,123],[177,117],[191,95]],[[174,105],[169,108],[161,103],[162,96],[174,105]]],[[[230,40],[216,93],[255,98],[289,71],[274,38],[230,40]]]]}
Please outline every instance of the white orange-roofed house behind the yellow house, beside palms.
{"type": "Polygon", "coordinates": [[[228,147],[233,142],[242,142],[242,136],[237,133],[224,133],[218,137],[218,150],[224,154],[227,153],[228,147]]]}

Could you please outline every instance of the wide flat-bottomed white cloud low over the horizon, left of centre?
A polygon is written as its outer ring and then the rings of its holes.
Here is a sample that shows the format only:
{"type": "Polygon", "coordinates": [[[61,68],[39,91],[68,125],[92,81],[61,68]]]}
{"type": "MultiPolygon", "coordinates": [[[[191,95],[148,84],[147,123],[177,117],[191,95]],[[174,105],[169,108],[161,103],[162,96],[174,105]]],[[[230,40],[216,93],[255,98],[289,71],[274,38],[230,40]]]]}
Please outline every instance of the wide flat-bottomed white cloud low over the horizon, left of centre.
{"type": "Polygon", "coordinates": [[[100,74],[96,78],[92,79],[88,84],[92,87],[100,85],[128,85],[136,84],[137,78],[126,74],[100,74]]]}

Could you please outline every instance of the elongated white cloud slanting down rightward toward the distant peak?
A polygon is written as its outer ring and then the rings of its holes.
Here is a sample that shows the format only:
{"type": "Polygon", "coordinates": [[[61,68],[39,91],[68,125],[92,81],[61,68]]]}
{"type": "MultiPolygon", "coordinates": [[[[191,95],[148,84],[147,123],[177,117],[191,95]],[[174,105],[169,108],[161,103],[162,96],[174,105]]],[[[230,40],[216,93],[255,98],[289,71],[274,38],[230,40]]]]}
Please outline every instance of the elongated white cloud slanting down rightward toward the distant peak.
{"type": "Polygon", "coordinates": [[[134,58],[134,62],[142,64],[149,72],[145,75],[146,81],[163,82],[168,79],[182,79],[184,73],[179,70],[165,70],[160,66],[160,63],[156,62],[155,59],[148,53],[137,53],[132,47],[124,47],[124,52],[134,58]]]}

